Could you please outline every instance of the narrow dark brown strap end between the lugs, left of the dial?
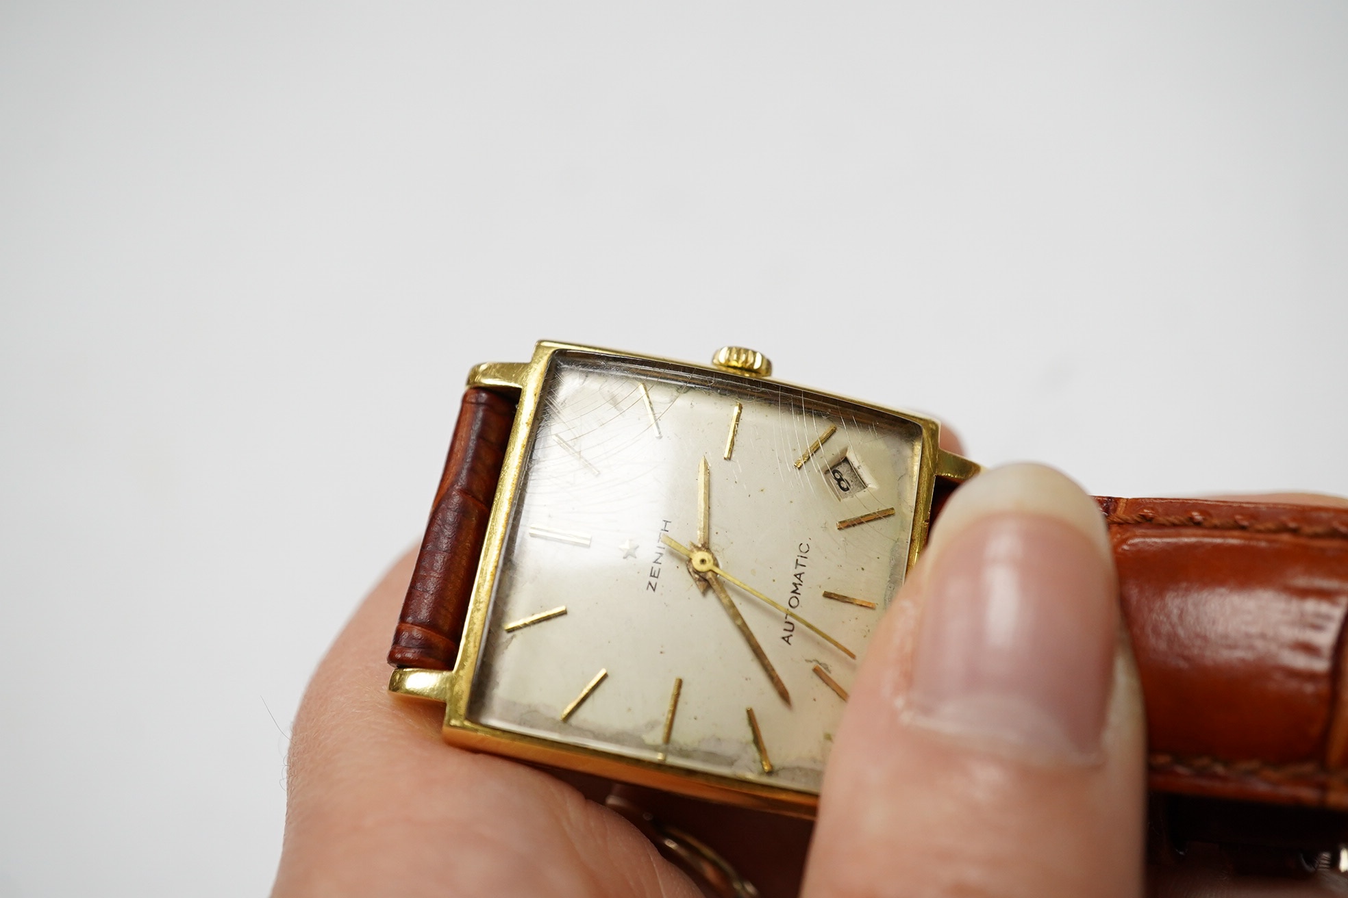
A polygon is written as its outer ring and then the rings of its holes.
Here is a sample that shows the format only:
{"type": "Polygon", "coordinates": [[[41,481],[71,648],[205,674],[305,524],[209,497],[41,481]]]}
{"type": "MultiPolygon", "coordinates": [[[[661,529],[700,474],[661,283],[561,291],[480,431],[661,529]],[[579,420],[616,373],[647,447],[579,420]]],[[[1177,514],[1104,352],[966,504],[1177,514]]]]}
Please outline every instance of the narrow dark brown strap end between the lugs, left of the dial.
{"type": "Polygon", "coordinates": [[[435,670],[454,666],[514,423],[514,399],[479,386],[464,393],[426,537],[388,650],[390,664],[435,670]]]}

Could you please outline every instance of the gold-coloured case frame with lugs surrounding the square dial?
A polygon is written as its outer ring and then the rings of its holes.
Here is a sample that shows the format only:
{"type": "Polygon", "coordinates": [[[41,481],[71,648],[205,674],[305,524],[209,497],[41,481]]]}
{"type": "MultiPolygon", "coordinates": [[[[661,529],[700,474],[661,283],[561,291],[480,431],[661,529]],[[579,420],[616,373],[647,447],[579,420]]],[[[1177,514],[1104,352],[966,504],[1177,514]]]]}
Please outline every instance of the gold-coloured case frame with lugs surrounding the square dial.
{"type": "Polygon", "coordinates": [[[469,372],[468,386],[519,390],[519,404],[488,520],[487,537],[477,565],[468,617],[464,623],[464,635],[453,669],[421,670],[400,668],[394,672],[390,680],[390,691],[443,701],[445,719],[442,735],[446,742],[462,749],[504,754],[522,761],[621,780],[712,801],[794,816],[813,816],[818,796],[810,792],[670,766],[659,761],[609,753],[604,749],[514,732],[474,722],[468,716],[474,677],[479,670],[479,661],[487,635],[496,578],[500,574],[515,505],[520,498],[524,459],[539,424],[539,403],[547,386],[547,377],[553,370],[553,362],[563,354],[608,358],[625,365],[652,366],[665,373],[709,374],[716,380],[743,378],[772,384],[776,388],[798,393],[807,401],[852,405],[869,415],[917,424],[922,431],[922,446],[918,459],[917,498],[906,571],[913,569],[926,544],[927,521],[930,518],[937,477],[962,481],[979,470],[972,462],[941,450],[940,423],[922,415],[900,412],[774,378],[740,374],[708,365],[694,365],[638,353],[620,353],[594,346],[539,341],[534,347],[534,357],[528,362],[488,362],[476,365],[469,372]]]}

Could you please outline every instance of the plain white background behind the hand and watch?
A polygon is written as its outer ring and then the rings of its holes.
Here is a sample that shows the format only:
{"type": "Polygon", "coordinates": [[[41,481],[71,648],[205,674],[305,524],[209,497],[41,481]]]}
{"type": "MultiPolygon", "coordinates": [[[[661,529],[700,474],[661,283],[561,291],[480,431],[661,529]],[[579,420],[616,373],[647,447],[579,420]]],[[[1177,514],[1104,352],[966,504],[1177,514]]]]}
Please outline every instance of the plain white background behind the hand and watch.
{"type": "Polygon", "coordinates": [[[537,338],[1348,493],[1348,7],[0,3],[0,897],[266,893],[537,338]]]}

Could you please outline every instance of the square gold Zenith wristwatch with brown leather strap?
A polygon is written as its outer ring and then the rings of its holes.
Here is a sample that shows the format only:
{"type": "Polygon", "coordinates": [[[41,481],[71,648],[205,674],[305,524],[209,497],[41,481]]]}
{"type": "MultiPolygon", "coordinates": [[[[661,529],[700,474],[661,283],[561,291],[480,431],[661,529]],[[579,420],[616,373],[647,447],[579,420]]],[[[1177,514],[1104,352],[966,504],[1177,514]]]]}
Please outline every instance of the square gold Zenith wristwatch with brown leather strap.
{"type": "MultiPolygon", "coordinates": [[[[867,641],[977,471],[749,349],[539,342],[469,373],[388,688],[457,746],[810,816],[867,641]]],[[[1099,504],[1167,839],[1348,841],[1348,512],[1099,504]]]]}

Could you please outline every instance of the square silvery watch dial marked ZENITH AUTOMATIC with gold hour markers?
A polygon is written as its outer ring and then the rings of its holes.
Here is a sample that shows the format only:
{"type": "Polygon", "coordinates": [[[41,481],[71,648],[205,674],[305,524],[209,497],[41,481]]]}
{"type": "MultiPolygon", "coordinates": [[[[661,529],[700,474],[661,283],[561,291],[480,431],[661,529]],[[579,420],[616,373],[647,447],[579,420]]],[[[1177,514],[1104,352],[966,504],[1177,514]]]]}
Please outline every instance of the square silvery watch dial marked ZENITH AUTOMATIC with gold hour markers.
{"type": "Polygon", "coordinates": [[[818,792],[921,446],[795,388],[555,357],[469,719],[818,792]]]}

